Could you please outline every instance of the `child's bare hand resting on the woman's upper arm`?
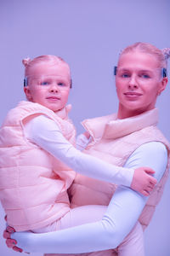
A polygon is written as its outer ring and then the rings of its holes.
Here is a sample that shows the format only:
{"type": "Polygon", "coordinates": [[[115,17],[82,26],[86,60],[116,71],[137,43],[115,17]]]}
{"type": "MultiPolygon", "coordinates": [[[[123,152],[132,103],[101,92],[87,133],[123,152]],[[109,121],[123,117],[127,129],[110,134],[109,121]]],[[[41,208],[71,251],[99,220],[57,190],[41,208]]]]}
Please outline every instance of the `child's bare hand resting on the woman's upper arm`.
{"type": "Polygon", "coordinates": [[[140,167],[134,170],[131,189],[134,189],[145,196],[150,195],[150,192],[154,189],[157,183],[156,178],[150,175],[153,173],[155,173],[155,171],[149,167],[140,167]]]}

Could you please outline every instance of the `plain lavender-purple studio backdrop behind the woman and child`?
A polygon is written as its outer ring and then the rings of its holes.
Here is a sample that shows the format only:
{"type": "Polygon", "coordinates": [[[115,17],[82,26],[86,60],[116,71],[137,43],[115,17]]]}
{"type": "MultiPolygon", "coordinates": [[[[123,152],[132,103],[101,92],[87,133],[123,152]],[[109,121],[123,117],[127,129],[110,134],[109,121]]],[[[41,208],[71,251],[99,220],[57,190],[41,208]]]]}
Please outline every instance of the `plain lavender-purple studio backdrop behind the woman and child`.
{"type": "MultiPolygon", "coordinates": [[[[71,65],[71,118],[82,131],[82,119],[116,112],[113,66],[128,44],[150,42],[170,47],[169,0],[0,0],[0,123],[8,109],[25,99],[26,56],[60,55],[71,65]]],[[[169,72],[170,73],[170,72],[169,72]]],[[[161,131],[170,139],[170,90],[157,102],[161,131]]],[[[170,253],[170,178],[150,227],[144,232],[146,256],[170,253]]],[[[0,207],[0,237],[4,212],[0,207]]],[[[1,255],[18,255],[0,238],[1,255]]],[[[42,255],[32,253],[32,256],[42,255]]]]}

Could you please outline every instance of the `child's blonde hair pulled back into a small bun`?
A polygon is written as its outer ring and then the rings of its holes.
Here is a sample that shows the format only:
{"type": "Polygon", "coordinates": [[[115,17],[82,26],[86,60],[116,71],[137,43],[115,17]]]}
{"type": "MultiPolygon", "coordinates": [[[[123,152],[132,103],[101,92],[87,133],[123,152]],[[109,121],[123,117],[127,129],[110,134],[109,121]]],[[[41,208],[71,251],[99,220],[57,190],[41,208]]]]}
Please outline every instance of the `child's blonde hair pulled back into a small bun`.
{"type": "Polygon", "coordinates": [[[23,65],[25,66],[25,79],[31,76],[32,67],[36,66],[40,63],[46,63],[48,61],[49,65],[62,65],[68,69],[68,76],[71,79],[71,70],[69,65],[59,56],[56,55],[40,55],[34,59],[30,59],[29,57],[22,60],[23,65]]]}

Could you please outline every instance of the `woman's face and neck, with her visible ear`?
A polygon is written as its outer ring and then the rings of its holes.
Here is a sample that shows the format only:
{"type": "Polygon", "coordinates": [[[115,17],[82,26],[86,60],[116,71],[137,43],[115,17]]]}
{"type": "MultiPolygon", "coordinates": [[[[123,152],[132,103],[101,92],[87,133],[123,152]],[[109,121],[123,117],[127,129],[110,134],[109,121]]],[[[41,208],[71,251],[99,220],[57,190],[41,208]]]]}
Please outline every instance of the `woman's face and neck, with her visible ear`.
{"type": "Polygon", "coordinates": [[[156,97],[167,85],[158,64],[154,55],[138,51],[120,57],[116,71],[119,119],[155,108],[156,97]]]}

